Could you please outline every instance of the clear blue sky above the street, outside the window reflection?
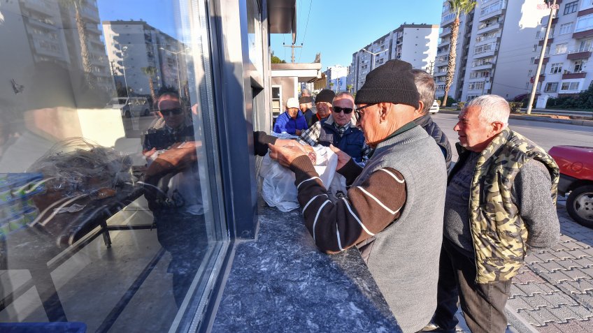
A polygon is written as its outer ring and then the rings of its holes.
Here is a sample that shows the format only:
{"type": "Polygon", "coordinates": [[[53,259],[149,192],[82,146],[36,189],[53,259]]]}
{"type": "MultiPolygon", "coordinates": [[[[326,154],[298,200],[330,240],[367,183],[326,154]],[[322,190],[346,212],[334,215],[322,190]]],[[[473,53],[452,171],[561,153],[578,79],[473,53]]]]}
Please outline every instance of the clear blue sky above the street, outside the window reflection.
{"type": "MultiPolygon", "coordinates": [[[[313,62],[321,52],[322,69],[348,66],[352,53],[404,22],[440,24],[442,0],[296,0],[296,62],[313,62]],[[310,6],[310,13],[309,13],[310,6]],[[308,20],[308,24],[307,24],[308,20]]],[[[271,35],[274,55],[290,62],[290,34],[271,35]]]]}

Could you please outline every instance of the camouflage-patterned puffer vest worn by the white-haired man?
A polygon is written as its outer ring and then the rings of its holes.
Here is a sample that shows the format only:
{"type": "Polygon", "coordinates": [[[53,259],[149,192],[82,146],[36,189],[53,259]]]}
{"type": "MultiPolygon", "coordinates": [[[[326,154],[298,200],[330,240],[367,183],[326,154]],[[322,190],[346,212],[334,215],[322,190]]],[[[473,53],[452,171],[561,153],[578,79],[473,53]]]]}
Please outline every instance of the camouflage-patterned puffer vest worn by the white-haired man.
{"type": "MultiPolygon", "coordinates": [[[[458,150],[460,160],[469,153],[460,146],[458,150]]],[[[543,163],[550,171],[550,195],[555,204],[558,166],[545,150],[531,140],[506,128],[478,157],[469,198],[471,238],[476,253],[476,283],[506,281],[515,276],[523,264],[527,228],[511,200],[510,191],[517,173],[531,158],[543,163]]]]}

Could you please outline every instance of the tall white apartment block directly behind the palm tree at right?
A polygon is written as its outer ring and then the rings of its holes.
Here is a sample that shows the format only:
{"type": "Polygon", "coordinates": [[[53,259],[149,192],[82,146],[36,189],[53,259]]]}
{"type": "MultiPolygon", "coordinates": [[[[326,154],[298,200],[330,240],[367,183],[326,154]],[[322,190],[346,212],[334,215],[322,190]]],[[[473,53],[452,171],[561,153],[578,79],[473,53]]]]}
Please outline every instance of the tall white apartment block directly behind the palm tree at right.
{"type": "MultiPolygon", "coordinates": [[[[455,75],[449,96],[470,101],[497,94],[514,98],[529,91],[529,69],[538,40],[536,34],[546,10],[538,0],[477,1],[476,7],[459,17],[455,75]]],[[[434,64],[436,96],[445,94],[445,75],[451,26],[455,13],[443,1],[441,38],[434,64]]]]}

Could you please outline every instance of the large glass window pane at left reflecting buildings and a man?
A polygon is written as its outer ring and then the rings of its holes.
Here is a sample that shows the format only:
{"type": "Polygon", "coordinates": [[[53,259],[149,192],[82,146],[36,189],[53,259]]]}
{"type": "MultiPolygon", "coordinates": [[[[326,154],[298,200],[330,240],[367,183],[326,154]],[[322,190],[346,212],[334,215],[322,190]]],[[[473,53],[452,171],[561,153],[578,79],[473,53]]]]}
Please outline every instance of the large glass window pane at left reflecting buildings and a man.
{"type": "Polygon", "coordinates": [[[228,244],[208,20],[205,1],[2,2],[2,322],[199,319],[228,244]]]}

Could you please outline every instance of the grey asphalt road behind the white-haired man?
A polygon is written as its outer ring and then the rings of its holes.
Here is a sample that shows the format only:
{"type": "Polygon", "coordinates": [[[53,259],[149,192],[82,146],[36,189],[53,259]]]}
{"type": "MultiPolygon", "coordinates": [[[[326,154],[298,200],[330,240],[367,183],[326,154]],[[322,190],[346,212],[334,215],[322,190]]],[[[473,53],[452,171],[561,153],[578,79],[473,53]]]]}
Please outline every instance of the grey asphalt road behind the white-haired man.
{"type": "MultiPolygon", "coordinates": [[[[453,127],[457,124],[457,114],[437,113],[432,116],[441,127],[451,147],[455,147],[457,132],[453,127]]],[[[510,128],[536,142],[546,151],[557,145],[593,146],[593,127],[571,124],[547,123],[543,121],[510,119],[510,128]]],[[[457,151],[453,150],[453,160],[457,161],[457,151]]]]}

